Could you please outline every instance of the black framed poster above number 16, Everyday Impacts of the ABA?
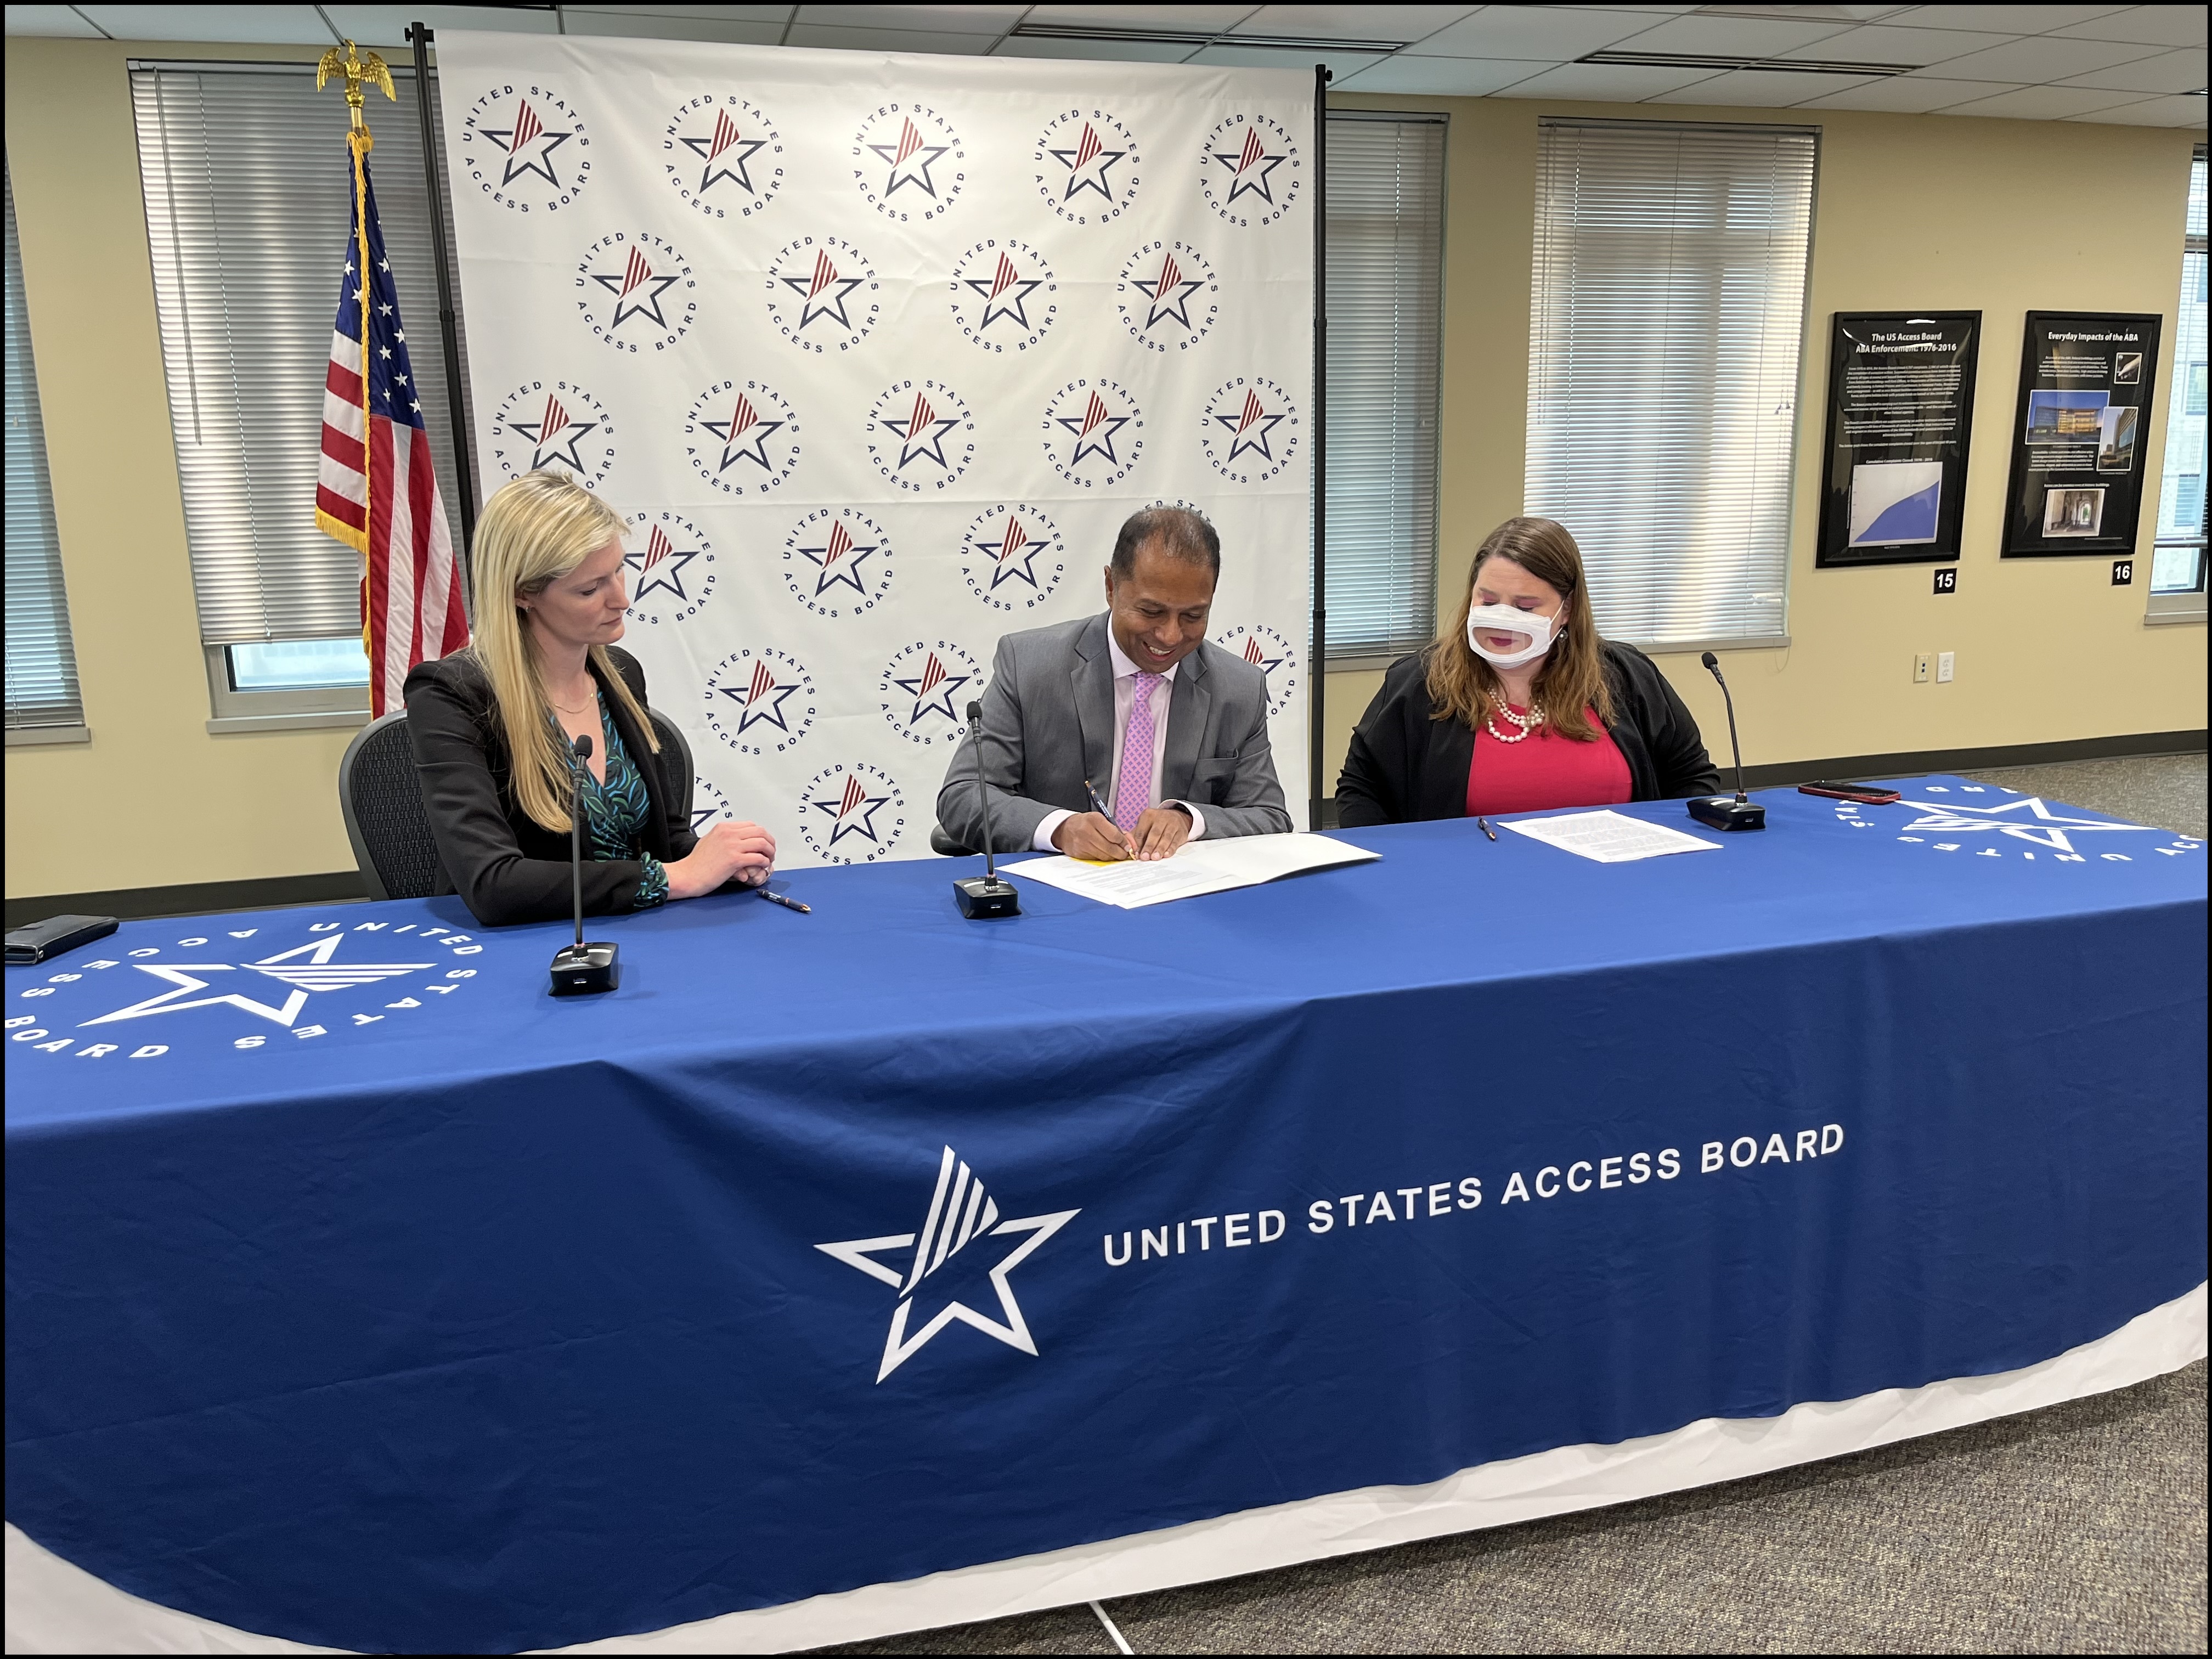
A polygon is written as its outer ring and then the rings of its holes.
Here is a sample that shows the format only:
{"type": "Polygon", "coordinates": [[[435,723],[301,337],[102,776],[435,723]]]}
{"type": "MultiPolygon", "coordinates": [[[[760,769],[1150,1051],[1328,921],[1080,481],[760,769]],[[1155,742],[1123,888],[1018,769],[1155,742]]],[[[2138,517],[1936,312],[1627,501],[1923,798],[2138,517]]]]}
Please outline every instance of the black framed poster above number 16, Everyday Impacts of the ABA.
{"type": "Polygon", "coordinates": [[[2135,553],[2159,323],[2154,312],[2028,312],[2004,557],[2135,553]]]}

